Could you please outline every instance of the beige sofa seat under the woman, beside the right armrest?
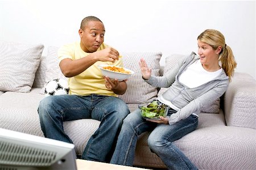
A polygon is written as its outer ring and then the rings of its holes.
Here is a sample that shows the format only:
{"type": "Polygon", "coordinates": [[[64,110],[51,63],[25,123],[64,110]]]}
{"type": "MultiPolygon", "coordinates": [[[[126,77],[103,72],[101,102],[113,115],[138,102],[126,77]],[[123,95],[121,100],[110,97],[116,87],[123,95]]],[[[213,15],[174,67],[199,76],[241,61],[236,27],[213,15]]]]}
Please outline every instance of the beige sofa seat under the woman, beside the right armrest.
{"type": "MultiPolygon", "coordinates": [[[[163,161],[148,148],[149,134],[144,132],[139,136],[134,164],[166,168],[163,161]]],[[[200,113],[197,129],[174,144],[199,169],[253,169],[256,166],[256,153],[251,152],[256,151],[255,130],[225,126],[222,111],[220,114],[200,113]]]]}

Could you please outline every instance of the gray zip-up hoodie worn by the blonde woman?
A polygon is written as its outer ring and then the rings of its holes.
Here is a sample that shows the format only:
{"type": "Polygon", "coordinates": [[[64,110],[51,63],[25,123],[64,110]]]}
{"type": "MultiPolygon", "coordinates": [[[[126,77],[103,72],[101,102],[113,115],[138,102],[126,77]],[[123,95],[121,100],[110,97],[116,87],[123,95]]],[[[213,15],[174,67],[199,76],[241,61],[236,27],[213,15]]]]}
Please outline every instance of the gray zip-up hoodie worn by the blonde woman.
{"type": "Polygon", "coordinates": [[[200,113],[201,107],[209,105],[211,102],[221,97],[228,89],[229,77],[226,76],[223,69],[220,75],[214,78],[214,80],[196,88],[188,88],[179,82],[177,77],[180,76],[185,68],[199,59],[200,57],[192,52],[191,55],[185,57],[175,69],[167,72],[164,76],[151,76],[150,79],[146,81],[148,84],[158,88],[170,87],[163,93],[163,98],[179,108],[177,113],[168,117],[170,125],[189,117],[192,113],[200,113]]]}

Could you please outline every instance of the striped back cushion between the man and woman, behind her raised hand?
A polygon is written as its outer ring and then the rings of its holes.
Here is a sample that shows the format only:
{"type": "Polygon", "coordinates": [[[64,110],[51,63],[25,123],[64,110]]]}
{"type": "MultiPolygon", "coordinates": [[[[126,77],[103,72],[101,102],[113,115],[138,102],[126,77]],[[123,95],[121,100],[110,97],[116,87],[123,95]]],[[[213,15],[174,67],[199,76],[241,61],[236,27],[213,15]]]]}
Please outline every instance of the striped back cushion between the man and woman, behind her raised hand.
{"type": "Polygon", "coordinates": [[[148,67],[152,69],[154,76],[160,73],[161,52],[122,52],[123,65],[125,68],[131,69],[135,73],[127,81],[126,93],[119,97],[126,103],[150,102],[156,98],[158,89],[144,82],[139,68],[139,60],[143,57],[148,67]]]}

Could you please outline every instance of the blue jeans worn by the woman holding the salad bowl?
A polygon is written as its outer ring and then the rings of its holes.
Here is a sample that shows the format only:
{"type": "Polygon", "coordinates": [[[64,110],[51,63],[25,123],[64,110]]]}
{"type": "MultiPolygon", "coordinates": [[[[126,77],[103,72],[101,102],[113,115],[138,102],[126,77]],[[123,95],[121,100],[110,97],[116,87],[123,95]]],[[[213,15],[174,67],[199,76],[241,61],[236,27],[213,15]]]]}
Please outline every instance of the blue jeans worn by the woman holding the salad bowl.
{"type": "MultiPolygon", "coordinates": [[[[168,115],[176,113],[169,109],[168,115]]],[[[152,131],[148,136],[148,146],[163,160],[168,169],[197,169],[195,165],[172,142],[196,129],[198,118],[190,115],[174,125],[164,125],[145,121],[139,109],[123,120],[117,146],[110,161],[112,164],[133,165],[138,135],[152,131]]]]}

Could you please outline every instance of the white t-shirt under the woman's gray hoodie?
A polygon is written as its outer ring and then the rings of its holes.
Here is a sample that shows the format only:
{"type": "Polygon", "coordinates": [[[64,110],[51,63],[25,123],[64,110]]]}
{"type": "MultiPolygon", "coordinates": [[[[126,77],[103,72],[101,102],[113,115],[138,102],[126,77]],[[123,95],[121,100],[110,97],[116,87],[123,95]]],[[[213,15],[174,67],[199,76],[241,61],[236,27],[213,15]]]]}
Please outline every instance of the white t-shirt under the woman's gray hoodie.
{"type": "Polygon", "coordinates": [[[197,60],[180,74],[178,80],[185,86],[188,86],[188,88],[196,88],[213,80],[221,73],[221,71],[222,68],[215,72],[208,72],[203,68],[200,60],[197,60]]]}

